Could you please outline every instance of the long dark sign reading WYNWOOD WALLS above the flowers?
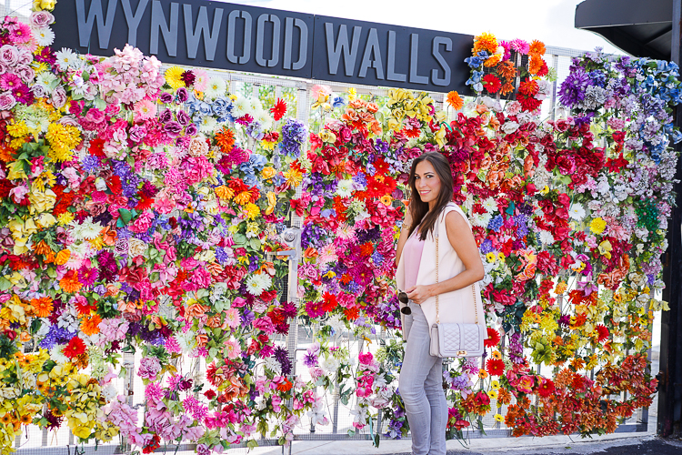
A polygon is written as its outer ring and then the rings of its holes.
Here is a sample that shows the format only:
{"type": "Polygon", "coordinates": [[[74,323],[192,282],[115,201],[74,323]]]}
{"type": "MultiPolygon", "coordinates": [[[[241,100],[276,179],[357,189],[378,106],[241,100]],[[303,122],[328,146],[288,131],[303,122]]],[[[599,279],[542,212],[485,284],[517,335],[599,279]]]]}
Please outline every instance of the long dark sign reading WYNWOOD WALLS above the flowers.
{"type": "Polygon", "coordinates": [[[203,0],[69,0],[54,14],[55,49],[128,43],[172,65],[468,93],[471,35],[203,0]]]}

